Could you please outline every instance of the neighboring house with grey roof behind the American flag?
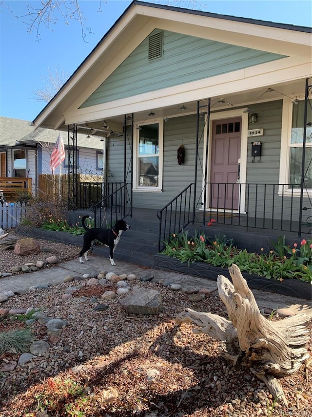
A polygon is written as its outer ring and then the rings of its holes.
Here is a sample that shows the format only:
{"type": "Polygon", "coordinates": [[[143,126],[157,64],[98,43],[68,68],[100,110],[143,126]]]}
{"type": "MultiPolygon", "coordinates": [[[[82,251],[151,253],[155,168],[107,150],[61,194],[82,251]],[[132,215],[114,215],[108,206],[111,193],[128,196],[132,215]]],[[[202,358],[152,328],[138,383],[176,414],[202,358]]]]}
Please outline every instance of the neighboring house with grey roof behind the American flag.
{"type": "MultiPolygon", "coordinates": [[[[37,190],[38,176],[51,174],[50,158],[58,131],[30,126],[26,120],[0,117],[0,173],[1,177],[32,178],[33,193],[37,190]]],[[[102,174],[103,145],[100,137],[86,137],[88,132],[77,136],[77,171],[82,174],[102,174]]],[[[65,159],[61,173],[68,173],[69,149],[67,132],[62,132],[65,159]]],[[[58,167],[55,174],[59,174],[58,167]]]]}

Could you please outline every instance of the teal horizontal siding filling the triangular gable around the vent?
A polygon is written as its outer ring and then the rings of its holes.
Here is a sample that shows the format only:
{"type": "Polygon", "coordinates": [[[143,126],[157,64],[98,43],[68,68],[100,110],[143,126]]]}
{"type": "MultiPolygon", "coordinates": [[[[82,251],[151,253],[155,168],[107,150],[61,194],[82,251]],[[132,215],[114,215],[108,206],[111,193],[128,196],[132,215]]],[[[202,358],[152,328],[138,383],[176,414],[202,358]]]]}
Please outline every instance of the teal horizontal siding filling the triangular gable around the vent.
{"type": "Polygon", "coordinates": [[[173,87],[284,58],[257,49],[164,31],[163,57],[148,61],[148,37],[80,108],[173,87]]]}

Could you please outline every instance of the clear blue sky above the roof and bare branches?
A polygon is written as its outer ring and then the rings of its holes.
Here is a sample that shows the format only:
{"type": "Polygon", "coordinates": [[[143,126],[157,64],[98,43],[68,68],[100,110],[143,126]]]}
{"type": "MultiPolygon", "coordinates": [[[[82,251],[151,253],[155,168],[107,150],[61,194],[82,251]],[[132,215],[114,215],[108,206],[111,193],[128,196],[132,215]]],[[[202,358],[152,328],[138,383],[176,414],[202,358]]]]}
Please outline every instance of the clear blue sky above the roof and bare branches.
{"type": "MultiPolygon", "coordinates": [[[[33,98],[33,91],[44,87],[43,79],[47,77],[48,68],[54,72],[59,67],[71,75],[131,1],[102,1],[101,12],[98,12],[100,0],[80,0],[86,25],[93,31],[87,35],[87,42],[81,37],[78,22],[69,20],[69,24],[65,24],[60,16],[53,25],[53,31],[40,26],[38,42],[36,33],[29,34],[23,19],[14,15],[25,15],[27,3],[38,6],[39,1],[4,0],[4,3],[10,11],[3,6],[0,9],[0,116],[32,121],[45,106],[44,102],[33,98]]],[[[179,5],[179,1],[170,3],[179,5]]],[[[310,0],[216,0],[198,3],[207,12],[312,26],[310,0]]]]}

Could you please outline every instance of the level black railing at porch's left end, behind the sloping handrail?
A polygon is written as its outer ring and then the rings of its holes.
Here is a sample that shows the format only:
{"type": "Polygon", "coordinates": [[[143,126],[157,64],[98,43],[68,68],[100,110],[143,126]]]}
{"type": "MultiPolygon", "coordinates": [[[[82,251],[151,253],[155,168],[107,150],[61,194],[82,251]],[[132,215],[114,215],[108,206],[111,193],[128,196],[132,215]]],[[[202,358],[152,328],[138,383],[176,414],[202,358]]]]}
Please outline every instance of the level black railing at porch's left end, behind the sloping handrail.
{"type": "Polygon", "coordinates": [[[121,187],[121,182],[78,182],[77,183],[77,208],[89,210],[103,198],[116,192],[121,187]]]}

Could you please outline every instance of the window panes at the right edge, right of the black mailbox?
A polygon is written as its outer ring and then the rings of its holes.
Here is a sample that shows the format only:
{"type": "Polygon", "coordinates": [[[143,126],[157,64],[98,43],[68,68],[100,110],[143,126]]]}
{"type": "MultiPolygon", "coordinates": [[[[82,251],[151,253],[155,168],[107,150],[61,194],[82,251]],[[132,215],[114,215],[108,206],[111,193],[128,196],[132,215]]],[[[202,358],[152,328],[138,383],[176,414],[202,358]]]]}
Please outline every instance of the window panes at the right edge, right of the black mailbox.
{"type": "MultiPolygon", "coordinates": [[[[307,123],[311,123],[312,100],[308,102],[307,123]]],[[[292,131],[289,144],[289,183],[300,188],[303,154],[304,100],[292,106],[292,131]]],[[[312,126],[306,129],[305,176],[306,188],[312,189],[312,126]]]]}

